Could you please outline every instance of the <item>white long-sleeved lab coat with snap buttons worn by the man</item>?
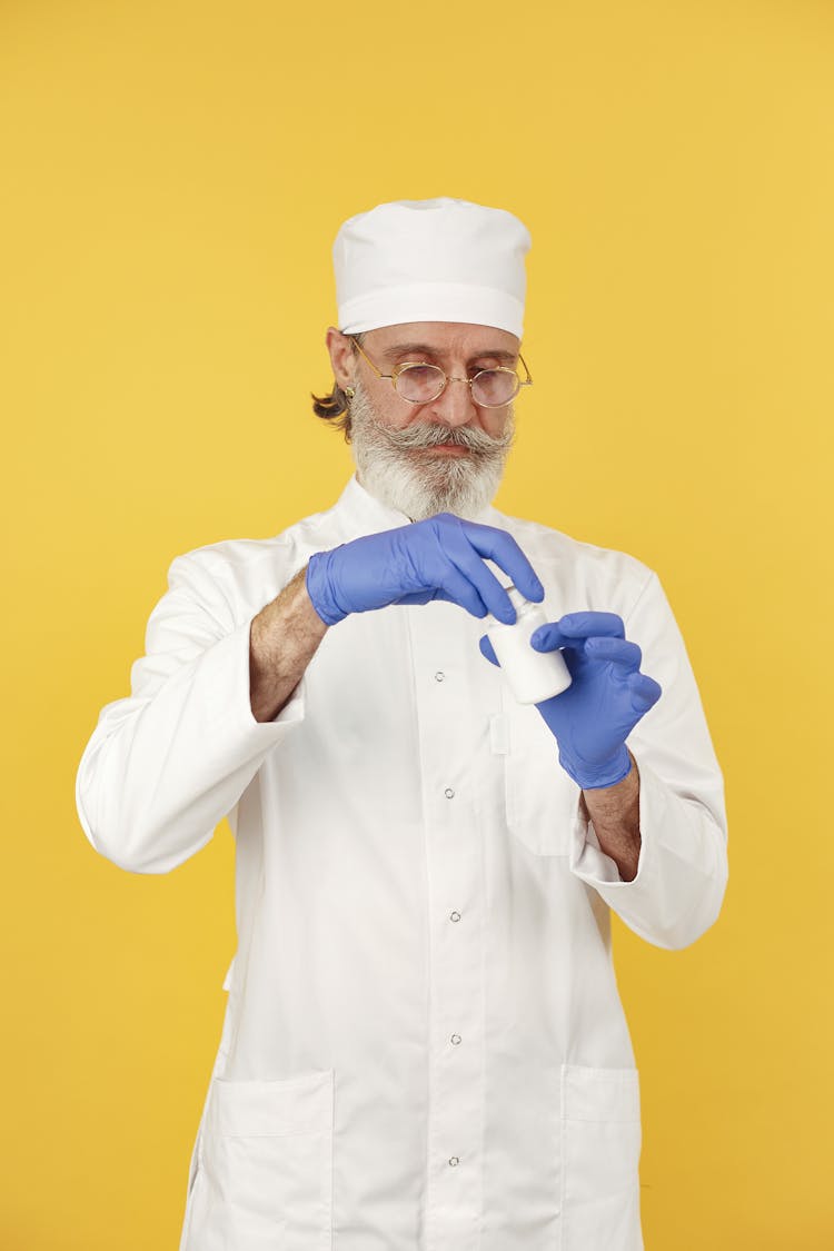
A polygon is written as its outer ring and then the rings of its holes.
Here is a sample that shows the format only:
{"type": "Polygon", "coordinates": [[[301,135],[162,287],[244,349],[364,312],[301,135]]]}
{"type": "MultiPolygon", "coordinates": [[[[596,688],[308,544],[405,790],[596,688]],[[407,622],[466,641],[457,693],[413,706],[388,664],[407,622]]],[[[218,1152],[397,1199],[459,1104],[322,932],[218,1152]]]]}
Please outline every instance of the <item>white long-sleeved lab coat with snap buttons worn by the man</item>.
{"type": "MultiPolygon", "coordinates": [[[[168,873],[229,817],[238,950],[180,1251],[639,1251],[638,1070],[613,908],[679,948],[726,883],[723,778],[654,572],[488,508],[550,620],[619,613],[663,687],[629,737],[623,882],[555,739],[456,604],[325,634],[273,722],[253,617],[310,554],[408,522],[353,477],[275,538],[176,557],[76,781],[93,846],[168,873]]],[[[496,567],[501,580],[503,575],[496,567]]]]}

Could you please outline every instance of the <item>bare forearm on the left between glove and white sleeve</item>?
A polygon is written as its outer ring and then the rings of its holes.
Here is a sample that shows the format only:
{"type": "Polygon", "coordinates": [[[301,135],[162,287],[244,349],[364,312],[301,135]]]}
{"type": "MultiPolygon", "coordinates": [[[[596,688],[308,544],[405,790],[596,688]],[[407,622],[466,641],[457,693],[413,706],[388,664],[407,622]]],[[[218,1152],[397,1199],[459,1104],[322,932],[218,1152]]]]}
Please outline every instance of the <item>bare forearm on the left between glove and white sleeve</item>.
{"type": "Polygon", "coordinates": [[[306,565],[253,618],[249,701],[255,721],[273,721],[288,702],[329,627],[306,590],[306,565]]]}

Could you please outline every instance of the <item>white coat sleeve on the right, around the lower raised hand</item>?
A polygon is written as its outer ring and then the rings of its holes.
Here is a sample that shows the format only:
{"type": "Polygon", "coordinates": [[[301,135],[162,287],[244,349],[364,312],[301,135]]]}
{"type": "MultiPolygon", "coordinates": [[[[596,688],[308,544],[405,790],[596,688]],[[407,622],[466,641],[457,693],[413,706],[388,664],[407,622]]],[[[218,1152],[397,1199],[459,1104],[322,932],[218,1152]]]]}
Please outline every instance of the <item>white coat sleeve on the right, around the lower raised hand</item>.
{"type": "Polygon", "coordinates": [[[620,878],[578,802],[571,871],[593,886],[641,938],[686,947],[718,918],[728,879],[724,779],[686,648],[653,572],[624,618],[625,637],[643,652],[640,669],[661,696],[626,744],[640,774],[640,856],[636,876],[620,878]]]}

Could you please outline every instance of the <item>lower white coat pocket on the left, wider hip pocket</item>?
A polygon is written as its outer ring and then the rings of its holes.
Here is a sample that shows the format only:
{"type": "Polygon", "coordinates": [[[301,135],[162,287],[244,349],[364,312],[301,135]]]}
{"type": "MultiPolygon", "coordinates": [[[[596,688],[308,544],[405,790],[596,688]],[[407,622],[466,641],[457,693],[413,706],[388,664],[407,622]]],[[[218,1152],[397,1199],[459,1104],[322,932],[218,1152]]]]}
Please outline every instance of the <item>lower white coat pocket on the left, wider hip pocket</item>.
{"type": "MultiPolygon", "coordinates": [[[[203,1148],[205,1228],[194,1251],[330,1251],[334,1071],[215,1077],[203,1148]]],[[[200,1175],[198,1173],[199,1198],[200,1175]]],[[[198,1227],[198,1208],[191,1222],[198,1227]]]]}

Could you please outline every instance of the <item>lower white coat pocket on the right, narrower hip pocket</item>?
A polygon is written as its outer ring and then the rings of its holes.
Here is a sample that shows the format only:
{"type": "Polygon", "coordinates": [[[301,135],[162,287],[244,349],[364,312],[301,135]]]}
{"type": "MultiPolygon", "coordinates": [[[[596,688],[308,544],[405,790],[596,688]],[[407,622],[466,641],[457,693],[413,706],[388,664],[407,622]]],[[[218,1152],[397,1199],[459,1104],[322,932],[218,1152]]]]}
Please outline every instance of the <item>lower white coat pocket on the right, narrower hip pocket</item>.
{"type": "Polygon", "coordinates": [[[636,1068],[561,1066],[561,1251],[643,1251],[636,1068]]]}

